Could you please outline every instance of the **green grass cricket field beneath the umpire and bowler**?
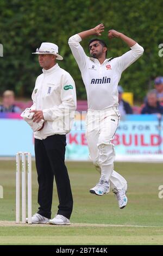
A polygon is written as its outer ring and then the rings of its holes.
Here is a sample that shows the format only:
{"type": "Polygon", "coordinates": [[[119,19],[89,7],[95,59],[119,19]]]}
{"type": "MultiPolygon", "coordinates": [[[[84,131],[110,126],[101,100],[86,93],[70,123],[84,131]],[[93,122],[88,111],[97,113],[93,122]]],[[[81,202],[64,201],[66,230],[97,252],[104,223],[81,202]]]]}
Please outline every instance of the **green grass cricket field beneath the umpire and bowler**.
{"type": "MultiPolygon", "coordinates": [[[[112,192],[102,197],[89,193],[99,179],[92,163],[66,165],[74,198],[71,222],[75,224],[21,225],[14,224],[15,161],[0,161],[0,185],[4,189],[0,245],[163,245],[163,199],[158,197],[158,187],[163,185],[161,163],[115,163],[115,170],[128,181],[128,205],[122,210],[112,192]]],[[[34,214],[38,207],[34,162],[32,182],[34,214]]],[[[57,205],[54,187],[52,217],[57,205]]]]}

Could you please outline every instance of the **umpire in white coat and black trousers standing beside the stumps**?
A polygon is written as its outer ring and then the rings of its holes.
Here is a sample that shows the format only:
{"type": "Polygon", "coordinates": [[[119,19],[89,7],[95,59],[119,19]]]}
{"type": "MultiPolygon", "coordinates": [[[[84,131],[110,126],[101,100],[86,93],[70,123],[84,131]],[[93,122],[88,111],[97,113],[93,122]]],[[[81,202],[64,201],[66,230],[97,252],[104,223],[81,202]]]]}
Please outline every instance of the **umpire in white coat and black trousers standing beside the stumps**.
{"type": "Polygon", "coordinates": [[[35,159],[39,182],[39,211],[32,217],[32,223],[68,225],[73,208],[73,198],[65,166],[66,133],[70,132],[76,109],[76,88],[68,72],[61,69],[56,60],[58,46],[42,42],[34,52],[39,56],[43,68],[37,77],[33,90],[33,121],[44,119],[41,130],[34,132],[35,159]],[[57,215],[51,219],[53,180],[57,184],[59,205],[57,215]]]}

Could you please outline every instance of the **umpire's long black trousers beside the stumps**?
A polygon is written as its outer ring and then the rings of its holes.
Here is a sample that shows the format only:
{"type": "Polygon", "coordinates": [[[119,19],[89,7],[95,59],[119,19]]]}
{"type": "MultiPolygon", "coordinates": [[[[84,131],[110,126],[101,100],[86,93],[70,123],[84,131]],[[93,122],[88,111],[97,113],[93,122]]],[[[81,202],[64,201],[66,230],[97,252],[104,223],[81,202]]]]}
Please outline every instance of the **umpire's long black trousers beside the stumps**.
{"type": "Polygon", "coordinates": [[[65,166],[66,135],[52,135],[46,139],[35,139],[35,159],[39,182],[38,214],[51,218],[53,180],[57,185],[58,213],[70,219],[73,198],[70,180],[65,166]]]}

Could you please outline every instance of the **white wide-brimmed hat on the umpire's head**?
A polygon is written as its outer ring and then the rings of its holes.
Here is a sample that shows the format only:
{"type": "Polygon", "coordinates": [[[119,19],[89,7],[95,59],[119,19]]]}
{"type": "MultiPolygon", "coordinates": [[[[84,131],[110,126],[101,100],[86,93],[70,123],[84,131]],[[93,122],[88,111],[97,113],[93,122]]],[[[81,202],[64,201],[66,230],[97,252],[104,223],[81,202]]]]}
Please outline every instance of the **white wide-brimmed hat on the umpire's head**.
{"type": "Polygon", "coordinates": [[[40,48],[37,48],[36,52],[33,52],[32,54],[53,54],[57,56],[56,59],[63,59],[63,57],[58,54],[58,45],[55,45],[52,42],[42,42],[40,48]]]}

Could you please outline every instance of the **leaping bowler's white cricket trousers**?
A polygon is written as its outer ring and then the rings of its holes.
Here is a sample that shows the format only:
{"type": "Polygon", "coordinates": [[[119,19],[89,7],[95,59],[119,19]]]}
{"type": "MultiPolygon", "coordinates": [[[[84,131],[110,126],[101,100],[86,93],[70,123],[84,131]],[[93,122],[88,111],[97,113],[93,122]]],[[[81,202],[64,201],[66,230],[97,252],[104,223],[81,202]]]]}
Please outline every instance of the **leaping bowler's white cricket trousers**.
{"type": "Polygon", "coordinates": [[[86,116],[86,139],[90,158],[101,177],[110,181],[112,188],[127,188],[127,181],[114,168],[115,149],[112,144],[120,120],[117,107],[103,111],[88,109],[86,116]]]}

